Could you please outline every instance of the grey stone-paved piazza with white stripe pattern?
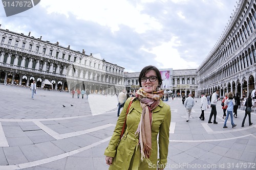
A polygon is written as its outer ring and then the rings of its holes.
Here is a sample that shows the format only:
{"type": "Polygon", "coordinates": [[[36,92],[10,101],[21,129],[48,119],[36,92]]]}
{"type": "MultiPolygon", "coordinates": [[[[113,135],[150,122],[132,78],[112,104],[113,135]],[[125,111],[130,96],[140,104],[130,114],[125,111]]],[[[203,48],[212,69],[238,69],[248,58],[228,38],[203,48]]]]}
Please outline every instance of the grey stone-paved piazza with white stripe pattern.
{"type": "MultiPolygon", "coordinates": [[[[103,153],[117,121],[116,96],[72,99],[67,92],[37,90],[32,100],[29,88],[6,85],[0,96],[0,169],[108,169],[103,153]]],[[[256,169],[256,111],[253,126],[247,118],[241,128],[239,109],[238,126],[232,129],[229,121],[223,129],[221,102],[215,125],[207,124],[210,110],[199,119],[195,100],[189,123],[180,98],[166,102],[172,123],[165,169],[256,169]]]]}

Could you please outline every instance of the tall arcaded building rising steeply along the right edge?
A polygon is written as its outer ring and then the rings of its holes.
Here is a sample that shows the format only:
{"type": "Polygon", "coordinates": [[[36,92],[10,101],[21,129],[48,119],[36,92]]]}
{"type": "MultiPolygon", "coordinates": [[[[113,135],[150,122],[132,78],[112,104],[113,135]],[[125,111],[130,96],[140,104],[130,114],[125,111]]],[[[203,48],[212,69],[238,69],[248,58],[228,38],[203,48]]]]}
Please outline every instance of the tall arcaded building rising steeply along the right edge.
{"type": "Polygon", "coordinates": [[[219,41],[197,69],[198,92],[247,96],[255,88],[256,4],[239,1],[219,41]]]}

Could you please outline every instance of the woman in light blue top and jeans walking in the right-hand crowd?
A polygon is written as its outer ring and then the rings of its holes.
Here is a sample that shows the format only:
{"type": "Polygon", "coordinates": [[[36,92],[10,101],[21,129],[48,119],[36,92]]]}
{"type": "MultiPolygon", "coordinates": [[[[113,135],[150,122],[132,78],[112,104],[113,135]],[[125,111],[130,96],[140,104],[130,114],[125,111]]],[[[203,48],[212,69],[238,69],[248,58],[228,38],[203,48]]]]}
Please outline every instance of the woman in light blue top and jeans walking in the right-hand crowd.
{"type": "Polygon", "coordinates": [[[232,117],[232,111],[233,111],[234,104],[236,104],[236,102],[234,102],[233,93],[230,91],[228,93],[228,99],[224,103],[224,106],[227,106],[227,117],[225,118],[223,128],[227,128],[227,119],[228,119],[229,115],[230,115],[230,118],[231,118],[232,128],[237,126],[236,124],[233,123],[233,117],[232,117]]]}

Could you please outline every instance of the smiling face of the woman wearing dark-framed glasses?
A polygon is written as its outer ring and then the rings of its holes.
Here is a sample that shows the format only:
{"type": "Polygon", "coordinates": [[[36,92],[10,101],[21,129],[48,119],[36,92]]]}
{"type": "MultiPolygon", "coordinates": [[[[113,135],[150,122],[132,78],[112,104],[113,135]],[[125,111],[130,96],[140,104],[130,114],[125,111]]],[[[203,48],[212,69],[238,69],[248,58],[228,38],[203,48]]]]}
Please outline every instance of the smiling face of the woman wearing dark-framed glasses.
{"type": "MultiPolygon", "coordinates": [[[[156,71],[150,70],[144,77],[150,78],[152,76],[157,77],[156,71]]],[[[156,91],[158,88],[158,79],[154,82],[151,82],[150,79],[146,79],[146,82],[141,81],[141,86],[145,92],[151,93],[153,91],[156,91]]]]}

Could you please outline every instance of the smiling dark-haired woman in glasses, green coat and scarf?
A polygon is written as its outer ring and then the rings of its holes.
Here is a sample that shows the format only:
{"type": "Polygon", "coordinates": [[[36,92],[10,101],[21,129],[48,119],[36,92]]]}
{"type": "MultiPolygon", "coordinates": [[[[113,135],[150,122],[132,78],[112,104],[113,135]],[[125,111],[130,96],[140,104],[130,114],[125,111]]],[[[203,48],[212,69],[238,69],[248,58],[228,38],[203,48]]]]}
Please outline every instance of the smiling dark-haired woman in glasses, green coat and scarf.
{"type": "Polygon", "coordinates": [[[141,88],[136,92],[136,99],[127,114],[123,137],[119,142],[131,98],[124,104],[105,150],[109,169],[164,169],[167,163],[170,107],[161,100],[163,90],[158,90],[162,84],[160,71],[155,66],[144,67],[139,75],[139,84],[141,88]]]}

